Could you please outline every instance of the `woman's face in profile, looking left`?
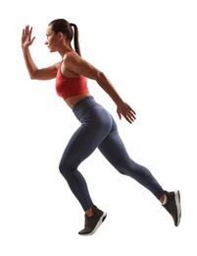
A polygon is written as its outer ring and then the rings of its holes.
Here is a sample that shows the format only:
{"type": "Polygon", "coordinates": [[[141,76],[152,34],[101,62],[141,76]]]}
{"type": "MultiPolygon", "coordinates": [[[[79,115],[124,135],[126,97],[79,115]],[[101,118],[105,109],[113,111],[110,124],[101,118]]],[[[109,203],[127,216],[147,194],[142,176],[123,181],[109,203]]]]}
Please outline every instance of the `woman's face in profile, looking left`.
{"type": "Polygon", "coordinates": [[[46,31],[46,41],[45,44],[49,48],[50,52],[58,51],[58,45],[59,45],[59,35],[51,30],[51,27],[49,26],[46,31]]]}

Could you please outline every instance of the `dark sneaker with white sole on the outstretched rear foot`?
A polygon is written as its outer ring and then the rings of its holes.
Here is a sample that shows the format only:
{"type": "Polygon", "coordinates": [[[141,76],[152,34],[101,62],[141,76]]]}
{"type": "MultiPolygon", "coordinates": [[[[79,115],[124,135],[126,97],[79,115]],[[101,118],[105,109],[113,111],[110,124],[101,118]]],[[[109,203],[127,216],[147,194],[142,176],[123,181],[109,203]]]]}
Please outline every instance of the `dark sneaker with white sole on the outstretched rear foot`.
{"type": "Polygon", "coordinates": [[[168,197],[166,205],[164,208],[170,213],[172,216],[173,222],[175,226],[178,226],[181,218],[181,206],[180,206],[180,193],[178,190],[174,192],[167,192],[166,195],[168,197]]]}

